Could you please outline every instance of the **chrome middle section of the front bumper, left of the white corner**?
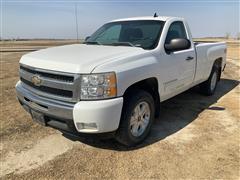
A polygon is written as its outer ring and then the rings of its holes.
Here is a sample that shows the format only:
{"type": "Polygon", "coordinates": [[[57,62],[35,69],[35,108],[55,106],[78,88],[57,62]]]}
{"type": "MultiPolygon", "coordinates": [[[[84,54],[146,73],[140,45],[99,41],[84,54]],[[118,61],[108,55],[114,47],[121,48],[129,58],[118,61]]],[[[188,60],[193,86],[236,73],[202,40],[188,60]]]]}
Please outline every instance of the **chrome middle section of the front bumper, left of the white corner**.
{"type": "Polygon", "coordinates": [[[29,113],[31,110],[34,110],[45,116],[73,120],[73,103],[57,101],[33,94],[25,89],[20,81],[16,84],[16,92],[21,105],[29,113]]]}

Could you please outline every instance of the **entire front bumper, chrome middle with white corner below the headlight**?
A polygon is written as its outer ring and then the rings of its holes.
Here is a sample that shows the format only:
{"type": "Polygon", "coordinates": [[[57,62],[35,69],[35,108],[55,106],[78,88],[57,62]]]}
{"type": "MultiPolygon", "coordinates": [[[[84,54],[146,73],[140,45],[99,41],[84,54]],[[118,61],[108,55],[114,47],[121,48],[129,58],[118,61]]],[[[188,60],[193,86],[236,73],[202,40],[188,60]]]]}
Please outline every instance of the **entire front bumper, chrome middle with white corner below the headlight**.
{"type": "Polygon", "coordinates": [[[45,124],[53,128],[71,133],[94,134],[112,132],[119,126],[123,106],[122,97],[80,101],[76,104],[67,103],[34,94],[24,88],[20,81],[16,84],[16,92],[25,110],[29,113],[36,111],[43,114],[45,124]]]}

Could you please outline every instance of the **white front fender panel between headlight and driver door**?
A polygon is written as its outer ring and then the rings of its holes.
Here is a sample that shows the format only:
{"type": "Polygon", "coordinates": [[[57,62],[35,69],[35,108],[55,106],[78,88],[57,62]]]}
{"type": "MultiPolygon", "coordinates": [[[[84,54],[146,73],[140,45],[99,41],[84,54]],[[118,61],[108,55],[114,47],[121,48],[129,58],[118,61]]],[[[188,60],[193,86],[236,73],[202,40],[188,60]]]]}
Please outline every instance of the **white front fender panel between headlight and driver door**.
{"type": "Polygon", "coordinates": [[[159,81],[160,77],[159,62],[151,53],[105,63],[97,67],[94,73],[109,71],[116,72],[118,96],[123,96],[128,87],[139,81],[152,77],[159,81]]]}

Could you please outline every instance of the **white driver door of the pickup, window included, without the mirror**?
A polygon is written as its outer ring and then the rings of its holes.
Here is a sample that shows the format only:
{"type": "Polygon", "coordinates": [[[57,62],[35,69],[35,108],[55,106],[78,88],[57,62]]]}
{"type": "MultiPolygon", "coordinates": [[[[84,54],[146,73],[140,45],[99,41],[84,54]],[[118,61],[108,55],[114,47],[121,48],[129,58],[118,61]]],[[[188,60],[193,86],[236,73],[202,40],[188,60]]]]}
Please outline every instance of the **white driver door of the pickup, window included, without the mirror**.
{"type": "MultiPolygon", "coordinates": [[[[165,44],[172,39],[186,38],[186,30],[182,21],[173,22],[168,30],[165,44]]],[[[174,96],[190,87],[195,73],[195,49],[190,47],[180,51],[166,53],[164,59],[164,74],[168,74],[164,79],[164,94],[174,96]]]]}

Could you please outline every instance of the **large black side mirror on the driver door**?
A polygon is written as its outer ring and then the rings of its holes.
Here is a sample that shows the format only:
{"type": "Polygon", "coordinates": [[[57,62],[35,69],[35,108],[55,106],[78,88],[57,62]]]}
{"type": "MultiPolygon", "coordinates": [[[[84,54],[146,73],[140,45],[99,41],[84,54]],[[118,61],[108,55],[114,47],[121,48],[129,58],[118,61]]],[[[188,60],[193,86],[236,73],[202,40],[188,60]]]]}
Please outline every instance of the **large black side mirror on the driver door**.
{"type": "Polygon", "coordinates": [[[169,44],[164,45],[167,52],[180,51],[191,47],[191,42],[188,39],[176,38],[172,39],[169,44]]]}

